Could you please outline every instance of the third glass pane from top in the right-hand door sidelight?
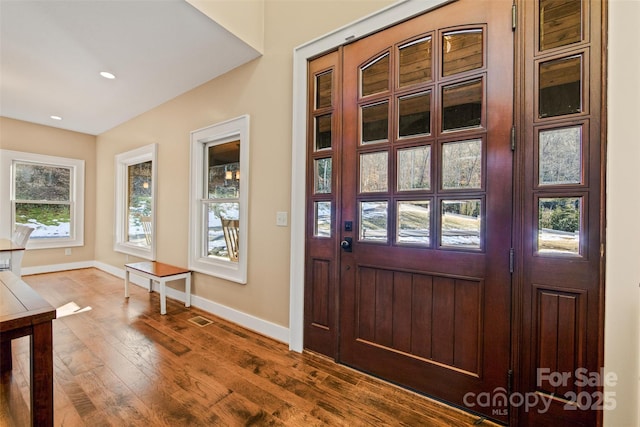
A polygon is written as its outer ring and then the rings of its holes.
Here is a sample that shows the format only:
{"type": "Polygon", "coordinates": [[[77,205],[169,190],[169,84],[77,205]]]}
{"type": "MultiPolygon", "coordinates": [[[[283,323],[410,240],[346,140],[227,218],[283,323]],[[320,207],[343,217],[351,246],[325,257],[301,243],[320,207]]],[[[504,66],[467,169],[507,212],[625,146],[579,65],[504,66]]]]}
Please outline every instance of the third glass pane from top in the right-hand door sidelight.
{"type": "Polygon", "coordinates": [[[538,134],[539,184],[582,182],[582,127],[549,129],[538,134]]]}

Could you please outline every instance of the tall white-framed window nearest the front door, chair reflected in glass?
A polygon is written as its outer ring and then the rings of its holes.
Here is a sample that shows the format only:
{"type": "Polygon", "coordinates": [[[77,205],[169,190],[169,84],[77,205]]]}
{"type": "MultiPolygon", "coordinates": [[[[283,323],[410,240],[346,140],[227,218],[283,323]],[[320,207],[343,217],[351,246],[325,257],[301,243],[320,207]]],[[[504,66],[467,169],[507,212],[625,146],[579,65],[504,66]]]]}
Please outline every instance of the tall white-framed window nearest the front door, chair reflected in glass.
{"type": "Polygon", "coordinates": [[[247,281],[249,116],[191,132],[189,268],[247,281]]]}

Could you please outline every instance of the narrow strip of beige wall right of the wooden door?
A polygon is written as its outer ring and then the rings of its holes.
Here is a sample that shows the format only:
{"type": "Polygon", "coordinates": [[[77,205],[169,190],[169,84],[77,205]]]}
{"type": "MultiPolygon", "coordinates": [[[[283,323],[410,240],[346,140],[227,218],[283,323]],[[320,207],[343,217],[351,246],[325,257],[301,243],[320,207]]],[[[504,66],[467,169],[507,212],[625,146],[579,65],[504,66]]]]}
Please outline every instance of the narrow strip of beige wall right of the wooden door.
{"type": "Polygon", "coordinates": [[[609,18],[604,356],[618,381],[605,388],[616,409],[604,421],[631,427],[640,426],[640,1],[611,0],[609,18]]]}

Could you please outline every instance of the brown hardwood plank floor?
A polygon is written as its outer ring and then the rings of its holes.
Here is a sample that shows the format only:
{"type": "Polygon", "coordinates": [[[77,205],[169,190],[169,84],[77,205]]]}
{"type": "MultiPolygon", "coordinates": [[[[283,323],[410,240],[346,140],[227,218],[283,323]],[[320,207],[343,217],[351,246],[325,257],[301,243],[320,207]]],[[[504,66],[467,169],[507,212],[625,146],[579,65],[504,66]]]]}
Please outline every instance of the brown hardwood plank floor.
{"type": "MultiPolygon", "coordinates": [[[[491,425],[97,269],[25,276],[59,307],[54,321],[56,426],[491,425]],[[212,321],[199,326],[190,319],[212,321]]],[[[0,381],[0,425],[28,425],[28,340],[13,341],[0,381]]]]}

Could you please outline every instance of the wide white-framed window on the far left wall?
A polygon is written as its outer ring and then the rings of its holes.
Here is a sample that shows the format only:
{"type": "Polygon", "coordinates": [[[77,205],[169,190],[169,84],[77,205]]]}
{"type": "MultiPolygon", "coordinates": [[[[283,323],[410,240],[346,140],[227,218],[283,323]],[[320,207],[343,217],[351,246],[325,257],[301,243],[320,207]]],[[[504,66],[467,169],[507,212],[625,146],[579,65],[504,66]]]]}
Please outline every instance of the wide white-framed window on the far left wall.
{"type": "Polygon", "coordinates": [[[29,249],[84,245],[84,160],[0,150],[1,233],[34,229],[29,249]]]}

